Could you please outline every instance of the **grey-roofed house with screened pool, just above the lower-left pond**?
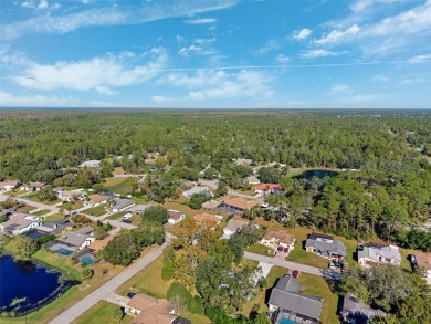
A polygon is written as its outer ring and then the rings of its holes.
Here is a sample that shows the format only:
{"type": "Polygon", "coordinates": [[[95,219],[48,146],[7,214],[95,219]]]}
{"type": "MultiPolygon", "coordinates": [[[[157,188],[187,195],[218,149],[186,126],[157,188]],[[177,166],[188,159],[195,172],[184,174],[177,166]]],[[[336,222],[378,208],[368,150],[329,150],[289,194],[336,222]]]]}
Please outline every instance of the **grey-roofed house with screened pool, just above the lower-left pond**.
{"type": "Polygon", "coordinates": [[[66,231],[56,240],[49,242],[46,248],[59,254],[69,255],[93,243],[96,240],[93,233],[94,229],[92,227],[85,227],[76,231],[66,231]]]}

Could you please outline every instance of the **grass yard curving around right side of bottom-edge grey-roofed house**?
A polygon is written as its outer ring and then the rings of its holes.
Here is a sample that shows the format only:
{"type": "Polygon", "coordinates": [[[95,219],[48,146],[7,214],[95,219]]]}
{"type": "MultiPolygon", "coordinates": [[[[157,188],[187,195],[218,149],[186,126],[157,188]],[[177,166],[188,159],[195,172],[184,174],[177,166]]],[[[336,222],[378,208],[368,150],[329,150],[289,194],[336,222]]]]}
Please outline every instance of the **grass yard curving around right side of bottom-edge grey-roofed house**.
{"type": "Polygon", "coordinates": [[[325,279],[317,275],[301,273],[298,280],[304,286],[304,294],[324,299],[320,314],[322,323],[339,323],[336,313],[338,296],[330,291],[325,279]]]}

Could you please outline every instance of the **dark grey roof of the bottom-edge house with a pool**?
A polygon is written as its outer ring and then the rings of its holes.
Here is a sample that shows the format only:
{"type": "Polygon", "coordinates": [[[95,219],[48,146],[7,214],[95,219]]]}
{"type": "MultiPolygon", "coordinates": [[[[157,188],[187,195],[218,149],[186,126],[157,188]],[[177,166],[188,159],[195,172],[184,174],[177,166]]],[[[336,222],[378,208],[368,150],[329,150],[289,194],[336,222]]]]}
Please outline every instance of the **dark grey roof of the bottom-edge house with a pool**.
{"type": "Polygon", "coordinates": [[[292,275],[280,278],[272,289],[269,304],[299,315],[318,320],[323,299],[301,293],[301,283],[292,275]]]}

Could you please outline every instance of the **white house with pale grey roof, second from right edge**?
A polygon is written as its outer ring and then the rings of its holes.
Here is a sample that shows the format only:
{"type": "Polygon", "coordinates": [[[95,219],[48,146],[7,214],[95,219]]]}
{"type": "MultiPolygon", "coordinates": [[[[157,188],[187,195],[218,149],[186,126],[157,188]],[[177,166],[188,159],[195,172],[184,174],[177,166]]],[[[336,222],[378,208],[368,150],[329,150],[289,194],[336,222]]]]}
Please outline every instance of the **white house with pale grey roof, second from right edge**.
{"type": "Polygon", "coordinates": [[[401,265],[401,254],[398,247],[368,243],[358,249],[358,262],[360,265],[393,264],[401,265]]]}

